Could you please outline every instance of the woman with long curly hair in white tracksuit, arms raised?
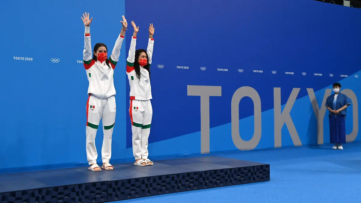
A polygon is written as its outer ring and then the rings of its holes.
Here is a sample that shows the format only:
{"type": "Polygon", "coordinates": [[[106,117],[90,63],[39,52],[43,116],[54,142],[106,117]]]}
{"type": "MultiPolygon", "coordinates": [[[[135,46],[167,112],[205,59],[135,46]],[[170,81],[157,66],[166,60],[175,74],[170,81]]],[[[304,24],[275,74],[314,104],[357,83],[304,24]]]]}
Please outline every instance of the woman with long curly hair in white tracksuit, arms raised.
{"type": "Polygon", "coordinates": [[[153,24],[149,25],[149,39],[147,50],[135,50],[136,35],[139,27],[134,27],[134,34],[130,43],[127,58],[127,76],[130,85],[129,116],[132,125],[132,143],[135,165],[153,165],[148,159],[148,138],[151,129],[153,109],[151,104],[152,91],[150,82],[150,66],[153,55],[153,24]]]}

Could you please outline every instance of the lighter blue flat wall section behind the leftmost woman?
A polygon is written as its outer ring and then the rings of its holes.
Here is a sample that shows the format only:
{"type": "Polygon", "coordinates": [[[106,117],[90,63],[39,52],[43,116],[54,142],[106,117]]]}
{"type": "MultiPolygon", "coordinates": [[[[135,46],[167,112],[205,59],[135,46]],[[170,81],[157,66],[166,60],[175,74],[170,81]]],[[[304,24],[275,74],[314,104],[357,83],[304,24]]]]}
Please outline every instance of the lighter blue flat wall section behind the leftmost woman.
{"type": "MultiPolygon", "coordinates": [[[[68,167],[87,162],[88,80],[81,17],[84,12],[93,17],[92,47],[103,42],[111,51],[125,14],[124,0],[107,1],[107,9],[99,10],[99,6],[98,1],[1,1],[0,168],[68,167]]],[[[124,50],[119,64],[125,64],[124,50]]],[[[114,85],[117,113],[122,116],[116,117],[114,146],[122,146],[126,140],[124,67],[119,67],[114,85]]],[[[99,152],[102,137],[99,130],[99,152]]],[[[115,159],[123,156],[121,147],[113,148],[115,159]]]]}

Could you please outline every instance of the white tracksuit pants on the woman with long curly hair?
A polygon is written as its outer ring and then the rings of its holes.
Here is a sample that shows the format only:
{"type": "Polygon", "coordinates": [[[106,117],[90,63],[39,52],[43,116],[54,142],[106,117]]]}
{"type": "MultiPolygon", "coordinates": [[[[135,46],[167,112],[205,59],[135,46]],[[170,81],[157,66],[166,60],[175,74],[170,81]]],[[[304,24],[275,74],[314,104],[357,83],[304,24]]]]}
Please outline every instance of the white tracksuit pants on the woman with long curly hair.
{"type": "Polygon", "coordinates": [[[133,134],[133,156],[135,160],[148,159],[148,138],[153,116],[151,100],[130,100],[129,115],[133,134]]]}

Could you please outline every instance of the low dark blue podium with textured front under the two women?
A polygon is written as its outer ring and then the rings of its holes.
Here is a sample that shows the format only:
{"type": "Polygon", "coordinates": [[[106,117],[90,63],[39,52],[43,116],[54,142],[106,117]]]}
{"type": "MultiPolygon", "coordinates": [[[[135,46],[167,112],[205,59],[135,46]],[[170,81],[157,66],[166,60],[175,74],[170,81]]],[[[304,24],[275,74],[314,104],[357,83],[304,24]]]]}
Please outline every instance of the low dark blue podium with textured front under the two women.
{"type": "Polygon", "coordinates": [[[171,159],[97,172],[82,167],[0,174],[0,203],[110,202],[269,180],[269,164],[217,156],[171,159]]]}

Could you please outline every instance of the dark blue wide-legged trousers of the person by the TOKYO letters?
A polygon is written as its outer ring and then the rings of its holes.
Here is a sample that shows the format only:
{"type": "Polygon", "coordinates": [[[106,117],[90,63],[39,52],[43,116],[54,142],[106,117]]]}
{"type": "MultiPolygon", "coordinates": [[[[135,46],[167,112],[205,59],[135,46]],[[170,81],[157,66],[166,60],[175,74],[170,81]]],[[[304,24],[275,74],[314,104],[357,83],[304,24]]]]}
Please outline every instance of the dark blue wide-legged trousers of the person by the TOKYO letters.
{"type": "Polygon", "coordinates": [[[330,120],[330,142],[346,143],[346,116],[345,115],[329,115],[330,120]]]}

